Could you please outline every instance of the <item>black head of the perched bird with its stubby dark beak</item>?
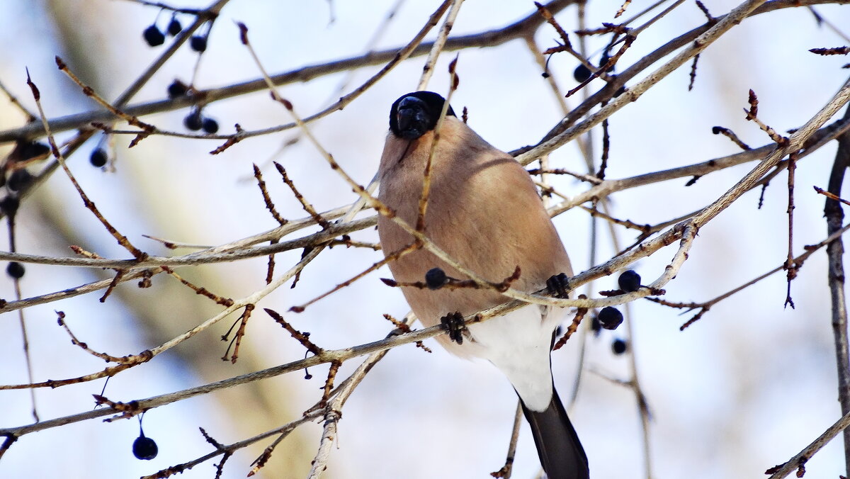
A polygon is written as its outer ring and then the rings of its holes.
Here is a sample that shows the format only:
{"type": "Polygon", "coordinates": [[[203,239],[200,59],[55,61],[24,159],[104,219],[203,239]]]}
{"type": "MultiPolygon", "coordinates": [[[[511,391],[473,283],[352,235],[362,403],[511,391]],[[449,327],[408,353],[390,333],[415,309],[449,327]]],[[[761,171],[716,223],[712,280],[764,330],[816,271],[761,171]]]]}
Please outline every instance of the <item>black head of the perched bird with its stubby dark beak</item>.
{"type": "MultiPolygon", "coordinates": [[[[418,91],[402,95],[389,110],[389,129],[399,138],[416,140],[437,126],[443,104],[445,98],[433,92],[418,91]]],[[[455,116],[451,106],[446,115],[455,116]]]]}

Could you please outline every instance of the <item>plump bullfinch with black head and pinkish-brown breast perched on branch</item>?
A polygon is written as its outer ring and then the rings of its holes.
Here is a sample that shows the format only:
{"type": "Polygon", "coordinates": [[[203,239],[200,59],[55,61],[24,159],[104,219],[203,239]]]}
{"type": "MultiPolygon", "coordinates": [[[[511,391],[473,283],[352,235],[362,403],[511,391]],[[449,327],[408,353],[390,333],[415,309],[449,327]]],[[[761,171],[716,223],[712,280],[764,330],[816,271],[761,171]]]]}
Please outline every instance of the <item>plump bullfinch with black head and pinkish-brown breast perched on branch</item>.
{"type": "MultiPolygon", "coordinates": [[[[507,376],[519,395],[547,477],[587,479],[587,454],[552,375],[555,331],[569,311],[530,304],[464,327],[462,316],[507,298],[493,289],[440,288],[450,279],[469,278],[427,248],[394,257],[415,241],[394,217],[416,225],[434,128],[444,105],[442,95],[416,91],[402,95],[390,108],[377,173],[377,199],[390,212],[377,220],[382,251],[390,259],[388,268],[422,324],[448,328],[449,334],[437,337],[446,350],[483,358],[507,376]],[[423,277],[428,288],[412,286],[422,285],[423,277]]],[[[457,118],[450,106],[439,128],[431,168],[425,237],[487,281],[502,282],[513,275],[512,288],[524,292],[548,288],[567,297],[573,274],[570,258],[530,175],[457,118]]]]}

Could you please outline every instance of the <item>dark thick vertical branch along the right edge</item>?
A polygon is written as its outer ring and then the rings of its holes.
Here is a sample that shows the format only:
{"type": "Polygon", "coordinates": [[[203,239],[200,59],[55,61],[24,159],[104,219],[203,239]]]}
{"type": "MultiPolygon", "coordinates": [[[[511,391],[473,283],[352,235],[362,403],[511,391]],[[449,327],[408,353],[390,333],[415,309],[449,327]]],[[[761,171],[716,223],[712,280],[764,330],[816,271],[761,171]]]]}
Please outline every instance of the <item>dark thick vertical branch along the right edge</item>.
{"type": "MultiPolygon", "coordinates": [[[[850,119],[850,108],[844,113],[844,119],[850,119]]],[[[838,138],[836,161],[832,164],[829,191],[837,196],[842,194],[844,172],[850,165],[850,133],[838,138]]],[[[844,212],[840,202],[828,198],[824,207],[826,229],[831,233],[842,227],[844,212]]],[[[832,333],[836,341],[836,362],[838,367],[838,401],[842,405],[842,415],[850,413],[850,353],[847,346],[847,300],[844,296],[844,242],[842,238],[831,242],[826,248],[829,261],[830,297],[832,299],[832,333]]],[[[850,472],[850,431],[844,430],[844,461],[850,472]]]]}

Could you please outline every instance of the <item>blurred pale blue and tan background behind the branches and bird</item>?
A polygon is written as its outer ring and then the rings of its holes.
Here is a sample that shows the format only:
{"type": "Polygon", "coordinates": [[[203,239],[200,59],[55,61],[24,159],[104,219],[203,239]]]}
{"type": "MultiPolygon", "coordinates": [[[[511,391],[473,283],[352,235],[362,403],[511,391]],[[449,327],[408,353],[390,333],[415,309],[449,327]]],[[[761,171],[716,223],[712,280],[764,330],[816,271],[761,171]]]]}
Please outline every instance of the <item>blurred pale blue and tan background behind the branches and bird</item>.
{"type": "MultiPolygon", "coordinates": [[[[704,3],[716,16],[737,5],[726,0],[704,3]]],[[[259,77],[239,42],[235,21],[249,27],[253,47],[265,68],[274,74],[365,53],[376,28],[395,4],[395,0],[233,0],[212,27],[195,87],[221,87],[259,77]]],[[[408,43],[438,4],[402,3],[376,48],[408,43]]],[[[635,1],[623,18],[648,5],[635,1]]],[[[205,8],[208,3],[184,0],[173,6],[205,8]]],[[[620,2],[587,3],[587,25],[620,21],[613,18],[619,7],[620,2]]],[[[836,26],[850,25],[846,6],[822,5],[816,9],[836,26]]],[[[501,28],[534,11],[531,2],[467,0],[452,36],[501,28]]],[[[142,31],[155,21],[160,28],[167,25],[171,14],[159,12],[156,7],[123,0],[0,3],[0,44],[5,45],[0,48],[0,81],[35,110],[26,87],[28,68],[51,118],[97,109],[57,70],[54,56],[65,59],[72,71],[106,99],[115,99],[163,51],[164,47],[150,48],[142,38],[142,31]]],[[[568,31],[578,28],[575,6],[564,9],[557,18],[568,31]]],[[[183,14],[178,19],[184,26],[193,20],[183,14]]],[[[705,21],[694,3],[684,3],[641,33],[620,65],[631,65],[705,21]]],[[[433,39],[436,31],[428,38],[433,39]]],[[[607,38],[587,39],[592,62],[598,63],[607,38]]],[[[557,39],[551,26],[541,26],[536,33],[541,49],[555,46],[557,39]]],[[[170,41],[168,37],[166,43],[170,41]]],[[[625,178],[739,151],[723,136],[711,134],[715,125],[732,128],[751,146],[768,144],[767,136],[755,124],[746,122],[741,111],[747,106],[750,88],[758,94],[763,121],[779,131],[802,125],[847,80],[847,70],[841,69],[847,57],[822,57],[808,53],[808,49],[848,43],[846,37],[826,25],[819,26],[805,8],[745,20],[700,56],[693,91],[688,91],[689,67],[685,66],[610,119],[607,178],[625,178]]],[[[441,55],[429,89],[447,91],[446,66],[454,56],[452,52],[441,55]]],[[[196,58],[188,45],[180,48],[131,104],[166,98],[166,88],[175,78],[190,83],[196,58]]],[[[377,168],[388,128],[389,105],[416,88],[423,62],[424,57],[405,61],[343,111],[312,125],[317,138],[361,184],[367,183],[377,168]]],[[[548,63],[564,91],[576,84],[576,65],[567,54],[556,54],[548,63]]],[[[363,83],[379,68],[354,71],[344,92],[363,83]]],[[[541,67],[523,40],[462,50],[457,71],[461,83],[452,100],[455,110],[466,106],[469,125],[503,150],[535,144],[563,117],[552,89],[541,77],[541,67]]],[[[644,76],[638,76],[638,80],[644,76]]],[[[288,84],[280,92],[307,116],[337,98],[337,88],[346,77],[344,72],[332,74],[288,84]]],[[[588,88],[592,93],[603,85],[595,80],[588,88]]],[[[575,106],[577,101],[570,98],[568,103],[575,106]]],[[[25,117],[6,98],[0,105],[0,130],[25,123],[25,117]]],[[[143,119],[163,129],[183,132],[188,113],[183,109],[143,119]]],[[[204,115],[215,118],[222,133],[233,132],[234,123],[258,129],[289,122],[286,111],[269,101],[266,92],[212,103],[205,107],[204,115]]],[[[96,135],[69,158],[69,165],[82,188],[119,231],[150,254],[167,255],[174,253],[142,235],[217,245],[276,225],[252,180],[252,163],[263,168],[269,192],[286,218],[305,214],[291,191],[278,180],[270,167],[271,159],[287,168],[304,197],[319,211],[353,202],[354,193],[308,142],[280,152],[281,145],[294,136],[290,130],[252,138],[212,156],[209,151],[221,140],[151,136],[127,149],[131,138],[119,135],[114,140],[114,168],[103,170],[88,163],[89,153],[100,138],[96,135]]],[[[597,162],[600,137],[595,130],[597,162]]],[[[67,138],[68,134],[59,135],[59,140],[67,138]]],[[[0,148],[5,155],[11,145],[0,148]]],[[[826,237],[824,198],[814,194],[812,186],[826,187],[835,149],[833,142],[797,167],[796,254],[802,253],[804,244],[826,237]]],[[[584,159],[572,144],[553,153],[551,166],[587,172],[584,159]]],[[[638,224],[669,220],[702,208],[752,166],[708,174],[687,188],[688,179],[680,179],[621,191],[611,197],[611,212],[638,224]]],[[[35,171],[37,168],[33,168],[35,171]]],[[[570,196],[588,187],[570,178],[553,182],[570,196]]],[[[700,230],[689,260],[666,288],[666,299],[711,299],[784,262],[785,174],[765,191],[761,209],[757,209],[758,197],[759,191],[751,191],[700,230]]],[[[61,172],[22,202],[16,222],[22,253],[71,256],[68,246],[76,244],[107,258],[127,258],[126,250],[83,207],[61,172]]],[[[558,216],[555,224],[575,270],[587,269],[592,262],[588,214],[574,208],[558,216]]],[[[617,251],[607,225],[600,223],[598,231],[595,264],[617,251]]],[[[621,246],[637,237],[635,231],[619,229],[618,235],[621,246]]],[[[377,241],[372,230],[352,236],[377,241]]],[[[651,282],[664,271],[674,248],[661,250],[632,267],[644,282],[651,282]]],[[[299,254],[277,255],[278,271],[294,264],[299,254]]],[[[380,258],[380,252],[369,249],[327,250],[303,271],[297,288],[290,289],[287,284],[259,306],[286,311],[380,258]]],[[[680,316],[680,311],[638,301],[629,307],[631,328],[604,331],[598,337],[583,332],[556,352],[555,381],[567,400],[575,389],[581,342],[586,346],[581,385],[570,416],[594,476],[646,476],[635,396],[611,380],[630,379],[632,354],[652,413],[649,448],[654,477],[762,476],[764,470],[790,459],[839,419],[825,265],[825,252],[821,251],[803,266],[791,286],[795,309],[783,307],[785,275],[779,273],[715,305],[683,332],[679,326],[691,315],[680,316]],[[631,338],[629,330],[633,332],[631,338]],[[615,339],[628,342],[626,354],[612,351],[615,339]]],[[[266,259],[258,258],[179,272],[214,293],[241,298],[263,286],[265,271],[266,259]]],[[[378,281],[388,276],[382,269],[287,319],[296,328],[309,331],[314,343],[326,349],[381,339],[391,328],[382,314],[401,317],[407,311],[400,292],[378,281]]],[[[107,277],[111,277],[111,271],[26,265],[20,286],[23,296],[29,297],[107,277]]],[[[599,290],[614,288],[616,278],[609,277],[593,283],[590,290],[598,296],[599,290]]],[[[212,301],[163,275],[155,277],[148,289],[126,282],[105,303],[99,302],[101,294],[26,309],[35,380],[69,378],[105,367],[102,360],[71,345],[56,324],[55,311],[65,312],[65,321],[79,339],[113,356],[160,345],[220,311],[212,301]]],[[[13,282],[5,275],[0,277],[0,297],[14,299],[13,282]]],[[[17,316],[17,312],[0,316],[0,383],[7,385],[27,382],[17,316]]],[[[219,340],[220,335],[236,319],[232,316],[154,361],[117,375],[109,382],[105,396],[129,401],[303,358],[303,347],[258,310],[248,323],[239,361],[223,362],[220,358],[227,343],[219,340]]],[[[449,356],[433,340],[427,345],[432,354],[413,345],[391,351],[354,391],[343,410],[326,477],[488,477],[501,468],[516,408],[507,381],[486,363],[449,356]]],[[[359,363],[346,362],[340,374],[350,374],[359,363]]],[[[150,411],[144,417],[144,433],[159,446],[159,454],[150,461],[133,457],[131,446],[139,435],[136,419],[113,423],[94,419],[26,435],[0,460],[0,477],[152,474],[212,450],[198,427],[218,442],[230,443],[297,419],[320,399],[326,371],[311,368],[313,379],[304,379],[302,373],[287,374],[150,411]]],[[[52,419],[86,411],[94,407],[91,395],[99,394],[103,386],[100,379],[38,390],[38,413],[41,419],[52,419]]],[[[0,391],[0,427],[31,422],[29,391],[0,391]]],[[[299,428],[280,443],[259,476],[306,476],[320,432],[320,424],[299,428]]],[[[224,467],[224,477],[245,476],[267,444],[261,442],[235,453],[224,467]]],[[[837,477],[844,473],[842,457],[841,442],[831,442],[808,461],[808,474],[837,477]]],[[[215,462],[218,459],[197,465],[183,476],[212,477],[215,462]]],[[[538,470],[536,450],[523,425],[513,477],[535,477],[538,470]]]]}

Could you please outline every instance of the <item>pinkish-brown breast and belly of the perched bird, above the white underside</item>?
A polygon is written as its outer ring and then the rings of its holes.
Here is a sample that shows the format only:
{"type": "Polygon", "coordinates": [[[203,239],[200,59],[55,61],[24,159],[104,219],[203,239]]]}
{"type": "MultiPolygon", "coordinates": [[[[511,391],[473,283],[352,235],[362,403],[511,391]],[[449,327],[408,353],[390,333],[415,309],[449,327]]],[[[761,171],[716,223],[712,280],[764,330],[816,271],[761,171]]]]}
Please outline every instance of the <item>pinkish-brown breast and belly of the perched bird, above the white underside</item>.
{"type": "MultiPolygon", "coordinates": [[[[416,225],[423,172],[433,132],[416,140],[389,134],[381,159],[378,198],[408,225],[416,225]]],[[[482,140],[466,124],[447,117],[433,157],[425,234],[467,269],[501,282],[519,266],[514,288],[533,291],[548,277],[571,275],[570,260],[533,182],[519,163],[482,140]]],[[[388,218],[378,219],[384,254],[411,244],[413,237],[388,218]]],[[[425,249],[389,264],[400,282],[422,281],[439,267],[450,277],[464,276],[425,249]]],[[[405,298],[425,325],[460,311],[467,315],[506,300],[493,291],[431,291],[404,288],[405,298]]]]}

